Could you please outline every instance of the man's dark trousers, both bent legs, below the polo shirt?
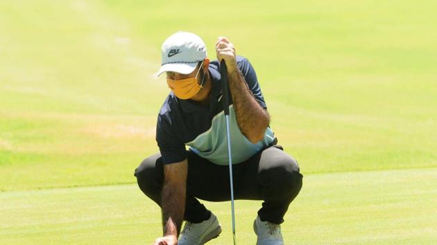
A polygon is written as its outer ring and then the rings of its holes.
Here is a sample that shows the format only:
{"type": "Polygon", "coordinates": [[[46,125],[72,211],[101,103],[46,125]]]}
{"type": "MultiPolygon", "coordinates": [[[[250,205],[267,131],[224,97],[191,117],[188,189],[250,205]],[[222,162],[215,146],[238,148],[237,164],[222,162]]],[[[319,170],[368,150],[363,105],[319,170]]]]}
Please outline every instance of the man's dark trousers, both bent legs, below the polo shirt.
{"type": "MultiPolygon", "coordinates": [[[[273,146],[247,161],[232,166],[235,199],[264,200],[258,211],[262,221],[281,224],[286,210],[302,188],[298,163],[273,146]]],[[[209,211],[194,198],[206,201],[230,201],[230,178],[227,165],[216,165],[188,155],[187,203],[185,220],[198,223],[209,217],[209,211]]],[[[143,161],[135,170],[139,188],[160,205],[164,172],[160,154],[143,161]]]]}

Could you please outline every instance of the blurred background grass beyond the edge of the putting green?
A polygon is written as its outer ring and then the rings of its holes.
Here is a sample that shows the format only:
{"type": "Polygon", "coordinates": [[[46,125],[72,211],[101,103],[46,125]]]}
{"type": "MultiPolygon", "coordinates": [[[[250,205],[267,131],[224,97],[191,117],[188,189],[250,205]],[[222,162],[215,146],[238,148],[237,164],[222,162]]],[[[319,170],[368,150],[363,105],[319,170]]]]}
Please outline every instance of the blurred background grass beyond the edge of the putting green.
{"type": "Polygon", "coordinates": [[[437,166],[435,1],[1,1],[0,190],[134,183],[160,45],[224,35],[304,174],[437,166]]]}

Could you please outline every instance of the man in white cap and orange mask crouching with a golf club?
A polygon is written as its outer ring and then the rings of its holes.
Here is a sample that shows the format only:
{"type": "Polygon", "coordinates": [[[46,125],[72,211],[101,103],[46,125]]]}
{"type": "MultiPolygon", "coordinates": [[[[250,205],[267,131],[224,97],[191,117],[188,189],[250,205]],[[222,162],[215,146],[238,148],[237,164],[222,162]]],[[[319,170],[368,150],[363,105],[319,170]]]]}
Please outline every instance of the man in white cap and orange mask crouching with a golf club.
{"type": "Polygon", "coordinates": [[[162,210],[164,235],[155,244],[205,244],[221,233],[217,217],[198,201],[230,200],[220,60],[228,67],[232,97],[234,197],[264,200],[253,224],[257,244],[284,244],[280,224],[302,188],[302,174],[298,163],[275,145],[251,64],[235,55],[225,37],[216,42],[216,57],[210,62],[205,43],[192,33],[175,33],[162,44],[157,75],[166,73],[171,93],[157,118],[160,154],[146,158],[135,170],[139,188],[162,210]]]}

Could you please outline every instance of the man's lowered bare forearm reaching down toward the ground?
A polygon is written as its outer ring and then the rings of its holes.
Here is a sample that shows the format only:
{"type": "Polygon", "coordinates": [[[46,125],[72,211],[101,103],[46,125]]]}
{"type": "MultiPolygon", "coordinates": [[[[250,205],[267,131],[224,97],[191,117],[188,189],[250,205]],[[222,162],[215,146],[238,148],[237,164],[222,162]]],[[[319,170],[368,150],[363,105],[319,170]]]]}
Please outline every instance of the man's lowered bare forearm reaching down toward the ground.
{"type": "Polygon", "coordinates": [[[185,194],[185,187],[164,183],[161,202],[164,235],[178,237],[184,219],[185,194]]]}

